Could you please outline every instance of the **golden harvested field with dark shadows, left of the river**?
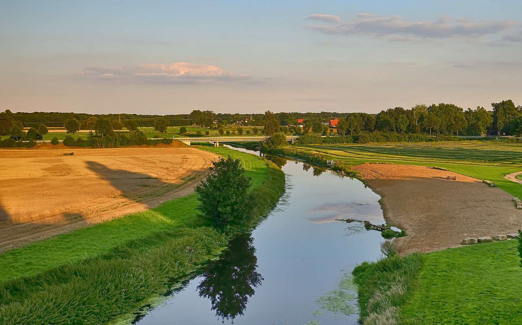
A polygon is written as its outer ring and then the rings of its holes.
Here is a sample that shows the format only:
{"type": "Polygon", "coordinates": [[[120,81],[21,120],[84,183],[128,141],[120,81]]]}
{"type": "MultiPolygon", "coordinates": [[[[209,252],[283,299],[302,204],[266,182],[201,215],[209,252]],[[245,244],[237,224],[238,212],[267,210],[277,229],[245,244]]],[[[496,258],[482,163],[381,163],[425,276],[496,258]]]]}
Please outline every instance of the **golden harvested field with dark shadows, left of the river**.
{"type": "Polygon", "coordinates": [[[216,158],[169,145],[0,150],[0,251],[192,193],[216,158]]]}

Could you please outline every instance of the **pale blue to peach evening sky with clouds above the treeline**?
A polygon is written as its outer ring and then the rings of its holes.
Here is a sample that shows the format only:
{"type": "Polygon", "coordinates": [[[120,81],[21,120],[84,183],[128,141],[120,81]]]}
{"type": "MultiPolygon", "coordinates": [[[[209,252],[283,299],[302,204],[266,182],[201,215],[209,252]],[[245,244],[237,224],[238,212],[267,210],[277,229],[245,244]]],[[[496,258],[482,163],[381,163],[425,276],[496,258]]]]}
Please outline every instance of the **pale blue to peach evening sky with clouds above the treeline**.
{"type": "Polygon", "coordinates": [[[3,1],[0,110],[522,105],[519,0],[3,1]]]}

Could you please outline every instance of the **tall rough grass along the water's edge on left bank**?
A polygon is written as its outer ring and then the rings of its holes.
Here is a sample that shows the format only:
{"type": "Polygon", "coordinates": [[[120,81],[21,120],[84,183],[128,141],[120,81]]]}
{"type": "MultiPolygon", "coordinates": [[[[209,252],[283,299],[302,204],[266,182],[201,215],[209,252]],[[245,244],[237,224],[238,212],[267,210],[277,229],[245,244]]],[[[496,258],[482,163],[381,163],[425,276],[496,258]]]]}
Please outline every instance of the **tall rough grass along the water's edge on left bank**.
{"type": "Polygon", "coordinates": [[[0,324],[102,324],[132,312],[255,226],[284,190],[284,173],[271,163],[268,169],[252,190],[257,204],[248,223],[216,229],[203,218],[193,227],[158,231],[101,256],[11,280],[0,288],[0,324]]]}

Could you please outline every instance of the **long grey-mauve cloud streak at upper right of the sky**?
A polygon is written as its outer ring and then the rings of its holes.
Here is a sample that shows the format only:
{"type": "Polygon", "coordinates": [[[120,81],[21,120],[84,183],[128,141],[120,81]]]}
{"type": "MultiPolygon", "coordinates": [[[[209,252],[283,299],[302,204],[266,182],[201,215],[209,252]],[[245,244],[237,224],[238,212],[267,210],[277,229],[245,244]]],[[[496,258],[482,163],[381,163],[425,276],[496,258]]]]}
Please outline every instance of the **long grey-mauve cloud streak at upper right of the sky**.
{"type": "MultiPolygon", "coordinates": [[[[312,16],[316,15],[306,18],[312,16]]],[[[321,19],[326,20],[326,18],[321,19]]],[[[337,22],[331,19],[329,21],[337,22]]],[[[308,27],[325,34],[364,35],[386,38],[390,41],[421,41],[442,38],[475,38],[494,34],[516,25],[517,23],[512,20],[472,22],[468,19],[443,16],[435,21],[410,22],[404,21],[400,16],[380,17],[373,14],[357,14],[348,21],[340,21],[333,26],[308,25],[308,27]]]]}

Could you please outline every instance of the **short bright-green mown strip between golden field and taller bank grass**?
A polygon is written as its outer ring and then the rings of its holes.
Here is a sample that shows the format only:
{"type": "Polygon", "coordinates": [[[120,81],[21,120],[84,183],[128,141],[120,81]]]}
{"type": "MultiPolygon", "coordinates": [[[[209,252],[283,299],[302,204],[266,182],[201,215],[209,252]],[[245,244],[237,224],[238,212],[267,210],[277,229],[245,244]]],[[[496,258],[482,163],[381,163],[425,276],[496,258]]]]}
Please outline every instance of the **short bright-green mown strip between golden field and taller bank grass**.
{"type": "MultiPolygon", "coordinates": [[[[268,173],[263,159],[224,147],[200,147],[218,155],[241,159],[252,187],[261,185],[268,173]]],[[[184,227],[197,219],[196,195],[171,200],[157,208],[81,228],[0,255],[0,282],[35,275],[68,262],[98,256],[129,239],[147,237],[159,230],[184,227]]]]}

